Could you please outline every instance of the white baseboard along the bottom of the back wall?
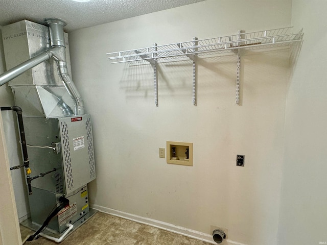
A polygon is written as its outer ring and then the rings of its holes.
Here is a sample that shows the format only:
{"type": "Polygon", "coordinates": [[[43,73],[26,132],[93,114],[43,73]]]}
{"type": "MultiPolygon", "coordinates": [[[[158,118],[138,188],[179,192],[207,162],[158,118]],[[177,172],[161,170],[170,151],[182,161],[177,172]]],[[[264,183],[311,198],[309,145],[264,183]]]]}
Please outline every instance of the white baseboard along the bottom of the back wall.
{"type": "MultiPolygon", "coordinates": [[[[152,226],[152,227],[156,227],[162,230],[166,230],[166,231],[170,231],[173,233],[177,233],[183,236],[187,236],[190,238],[194,238],[194,239],[198,239],[201,241],[205,241],[211,244],[218,244],[215,241],[213,241],[213,236],[211,234],[206,234],[203,232],[199,232],[199,231],[195,231],[195,230],[191,230],[191,229],[187,229],[184,227],[180,227],[180,226],[175,226],[166,222],[162,222],[156,219],[152,219],[152,218],[146,218],[146,217],[142,217],[142,216],[138,216],[135,214],[131,214],[131,213],[125,213],[119,210],[115,210],[112,208],[107,208],[107,207],[103,207],[100,205],[96,205],[96,204],[90,204],[90,208],[96,209],[100,212],[103,213],[108,213],[114,216],[118,216],[121,218],[126,218],[128,220],[132,220],[134,222],[137,223],[141,223],[144,225],[148,225],[148,226],[152,226]]],[[[229,239],[224,240],[222,243],[220,243],[221,245],[246,245],[244,243],[239,243],[239,242],[235,242],[235,241],[231,241],[229,239]]]]}

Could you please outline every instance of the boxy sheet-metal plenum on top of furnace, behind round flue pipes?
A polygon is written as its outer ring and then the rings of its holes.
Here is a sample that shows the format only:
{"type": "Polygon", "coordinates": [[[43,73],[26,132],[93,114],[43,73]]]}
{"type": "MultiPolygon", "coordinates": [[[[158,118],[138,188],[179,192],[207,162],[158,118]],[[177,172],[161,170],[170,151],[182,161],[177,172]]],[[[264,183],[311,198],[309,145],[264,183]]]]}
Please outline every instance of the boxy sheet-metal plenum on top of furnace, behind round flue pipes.
{"type": "MultiPolygon", "coordinates": [[[[49,50],[49,28],[28,20],[3,27],[3,44],[7,70],[49,50]]],[[[68,35],[64,34],[66,62],[70,72],[68,35]]],[[[16,105],[25,117],[60,117],[74,114],[74,101],[57,72],[53,59],[25,71],[9,82],[16,105]]]]}

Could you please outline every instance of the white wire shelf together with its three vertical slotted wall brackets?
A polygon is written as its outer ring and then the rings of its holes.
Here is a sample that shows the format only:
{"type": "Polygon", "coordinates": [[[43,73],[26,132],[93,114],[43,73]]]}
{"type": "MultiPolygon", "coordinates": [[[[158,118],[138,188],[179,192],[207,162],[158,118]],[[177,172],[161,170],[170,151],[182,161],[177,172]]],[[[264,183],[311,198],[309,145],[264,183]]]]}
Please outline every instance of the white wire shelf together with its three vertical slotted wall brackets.
{"type": "MultiPolygon", "coordinates": [[[[154,96],[155,105],[158,106],[158,75],[157,63],[160,60],[170,58],[184,60],[185,57],[193,61],[192,76],[192,102],[197,105],[197,56],[208,57],[211,55],[224,56],[233,54],[237,56],[237,75],[236,75],[236,104],[242,103],[241,86],[241,56],[243,50],[284,50],[290,48],[292,44],[301,44],[303,39],[302,30],[297,33],[291,33],[291,27],[263,30],[256,32],[238,31],[235,35],[222,36],[217,38],[207,38],[193,41],[178,42],[166,45],[156,45],[138,50],[126,50],[120,52],[107,53],[107,59],[114,60],[113,63],[150,63],[154,70],[154,96]]],[[[297,51],[299,52],[299,50],[297,51]]]]}

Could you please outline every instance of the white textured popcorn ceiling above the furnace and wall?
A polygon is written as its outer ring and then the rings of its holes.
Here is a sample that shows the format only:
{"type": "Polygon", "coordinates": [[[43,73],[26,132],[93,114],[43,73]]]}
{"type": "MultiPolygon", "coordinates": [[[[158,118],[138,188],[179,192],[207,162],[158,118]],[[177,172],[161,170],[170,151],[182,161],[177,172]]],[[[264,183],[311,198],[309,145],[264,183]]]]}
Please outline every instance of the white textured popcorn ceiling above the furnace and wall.
{"type": "Polygon", "coordinates": [[[0,0],[0,26],[28,19],[44,23],[44,18],[67,21],[65,31],[92,27],[204,0],[0,0]]]}

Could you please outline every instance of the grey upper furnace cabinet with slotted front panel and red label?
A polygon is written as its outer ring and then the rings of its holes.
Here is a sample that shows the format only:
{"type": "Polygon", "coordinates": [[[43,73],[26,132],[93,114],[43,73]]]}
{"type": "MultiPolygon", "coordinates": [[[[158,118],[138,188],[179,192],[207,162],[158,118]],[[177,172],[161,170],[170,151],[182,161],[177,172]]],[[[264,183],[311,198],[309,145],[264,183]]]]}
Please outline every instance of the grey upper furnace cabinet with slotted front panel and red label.
{"type": "Polygon", "coordinates": [[[32,187],[67,194],[96,178],[90,115],[25,117],[24,124],[31,176],[57,169],[32,187]]]}

